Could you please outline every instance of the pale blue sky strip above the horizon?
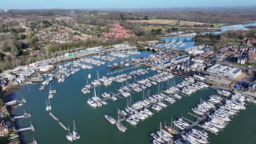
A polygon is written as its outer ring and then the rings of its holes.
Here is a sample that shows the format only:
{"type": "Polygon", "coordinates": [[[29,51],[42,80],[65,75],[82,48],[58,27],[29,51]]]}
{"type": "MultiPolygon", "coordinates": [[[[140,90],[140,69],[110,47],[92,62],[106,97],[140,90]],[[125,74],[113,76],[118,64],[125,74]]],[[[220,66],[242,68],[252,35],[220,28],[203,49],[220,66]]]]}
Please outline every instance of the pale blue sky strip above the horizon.
{"type": "Polygon", "coordinates": [[[255,0],[2,0],[0,9],[177,8],[256,5],[255,0]]]}

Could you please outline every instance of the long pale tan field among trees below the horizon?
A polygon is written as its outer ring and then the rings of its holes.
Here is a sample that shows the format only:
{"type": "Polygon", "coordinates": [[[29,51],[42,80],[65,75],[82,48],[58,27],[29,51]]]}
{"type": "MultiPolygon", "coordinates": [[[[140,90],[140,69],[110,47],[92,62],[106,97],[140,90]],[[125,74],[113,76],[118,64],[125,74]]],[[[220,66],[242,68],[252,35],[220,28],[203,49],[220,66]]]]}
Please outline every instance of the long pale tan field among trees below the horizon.
{"type": "Polygon", "coordinates": [[[150,19],[150,20],[129,20],[130,22],[148,22],[155,24],[164,24],[168,26],[193,26],[193,25],[203,25],[202,22],[193,21],[178,21],[178,20],[164,20],[164,19],[150,19]]]}

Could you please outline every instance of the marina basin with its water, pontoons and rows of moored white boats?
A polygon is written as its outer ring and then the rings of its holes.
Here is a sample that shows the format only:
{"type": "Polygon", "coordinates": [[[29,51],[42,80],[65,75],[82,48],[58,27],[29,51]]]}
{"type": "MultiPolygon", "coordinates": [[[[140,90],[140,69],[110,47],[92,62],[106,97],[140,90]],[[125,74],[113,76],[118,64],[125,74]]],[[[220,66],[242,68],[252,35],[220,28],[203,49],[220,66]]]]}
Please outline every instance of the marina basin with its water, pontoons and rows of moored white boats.
{"type": "MultiPolygon", "coordinates": [[[[211,88],[211,82],[148,63],[147,57],[153,54],[137,50],[112,51],[103,55],[80,55],[61,60],[51,73],[41,75],[43,82],[26,85],[15,97],[21,99],[19,95],[24,95],[27,103],[38,101],[30,103],[30,106],[38,107],[30,110],[31,115],[43,117],[33,121],[39,131],[34,135],[51,128],[57,131],[56,136],[60,137],[58,142],[61,143],[95,142],[92,134],[92,131],[98,133],[95,128],[101,128],[101,133],[106,134],[96,143],[132,143],[129,137],[140,137],[135,143],[193,142],[196,141],[194,135],[200,134],[203,129],[211,137],[211,142],[215,137],[218,139],[219,135],[215,135],[222,131],[208,128],[213,123],[211,119],[223,116],[223,109],[231,109],[229,106],[235,103],[240,94],[217,91],[211,88]],[[210,100],[221,99],[213,103],[207,101],[209,97],[210,100]],[[209,107],[206,109],[199,105],[209,107]],[[226,107],[223,108],[224,105],[226,107]],[[44,128],[40,123],[49,125],[44,128]],[[165,129],[168,125],[176,125],[177,134],[168,133],[165,129]],[[159,127],[160,132],[155,133],[159,127]],[[199,131],[191,132],[195,129],[199,131]],[[117,137],[122,137],[122,140],[117,137]]],[[[243,100],[247,101],[247,98],[243,97],[243,100]]],[[[22,106],[15,111],[21,109],[22,106]]],[[[21,123],[21,127],[26,123],[21,123]]],[[[26,130],[34,130],[34,125],[31,124],[26,130]]],[[[37,139],[39,143],[49,141],[53,134],[44,135],[45,139],[37,139]]],[[[25,136],[24,141],[29,142],[31,139],[31,136],[25,136]]],[[[205,142],[210,141],[207,139],[205,142]]]]}

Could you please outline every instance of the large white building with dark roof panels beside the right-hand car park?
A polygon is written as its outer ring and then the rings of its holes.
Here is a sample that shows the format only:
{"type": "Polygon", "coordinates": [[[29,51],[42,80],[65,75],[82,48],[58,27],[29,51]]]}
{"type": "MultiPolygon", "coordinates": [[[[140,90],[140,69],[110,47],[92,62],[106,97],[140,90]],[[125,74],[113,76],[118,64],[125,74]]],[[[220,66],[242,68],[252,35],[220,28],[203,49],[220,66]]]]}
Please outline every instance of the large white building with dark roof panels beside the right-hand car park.
{"type": "Polygon", "coordinates": [[[242,73],[241,69],[231,68],[220,64],[213,65],[212,67],[208,68],[207,71],[218,75],[228,76],[231,78],[236,78],[242,73]]]}

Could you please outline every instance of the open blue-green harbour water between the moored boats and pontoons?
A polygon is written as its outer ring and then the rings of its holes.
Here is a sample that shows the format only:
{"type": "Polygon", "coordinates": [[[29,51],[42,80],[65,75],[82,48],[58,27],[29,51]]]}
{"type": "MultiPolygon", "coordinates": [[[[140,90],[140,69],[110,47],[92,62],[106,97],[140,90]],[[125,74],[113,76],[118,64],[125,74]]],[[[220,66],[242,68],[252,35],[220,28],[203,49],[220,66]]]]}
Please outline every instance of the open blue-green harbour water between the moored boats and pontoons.
{"type": "MultiPolygon", "coordinates": [[[[145,57],[150,55],[149,52],[142,52],[141,55],[133,57],[145,57]]],[[[120,59],[120,58],[119,58],[120,59]]],[[[57,83],[54,79],[51,82],[51,86],[57,90],[53,100],[51,100],[52,113],[59,118],[60,122],[66,126],[73,128],[73,119],[77,125],[80,139],[74,142],[69,142],[66,139],[67,131],[63,130],[59,124],[48,112],[45,111],[45,99],[48,99],[48,87],[45,87],[44,91],[39,91],[38,85],[30,85],[21,88],[19,91],[14,92],[13,99],[19,99],[24,97],[27,100],[27,104],[16,108],[15,115],[21,115],[23,110],[31,113],[32,117],[18,121],[18,128],[24,128],[33,123],[36,131],[25,131],[21,133],[22,141],[24,143],[31,142],[36,139],[39,143],[150,143],[149,134],[155,132],[159,128],[160,122],[170,123],[171,118],[178,118],[181,116],[187,117],[193,121],[195,118],[187,114],[191,112],[191,108],[199,103],[200,99],[207,99],[210,95],[216,94],[216,90],[212,88],[205,88],[197,91],[189,97],[183,97],[182,100],[177,100],[175,104],[168,106],[160,112],[155,112],[153,117],[149,117],[143,122],[139,122],[136,127],[131,126],[126,121],[122,122],[127,125],[128,130],[125,133],[121,133],[115,125],[111,125],[104,118],[104,114],[110,113],[114,118],[117,117],[117,109],[124,109],[127,99],[119,99],[116,102],[107,100],[108,105],[103,105],[101,108],[94,109],[90,107],[86,101],[92,96],[91,93],[84,95],[80,92],[80,89],[86,84],[86,78],[88,74],[92,74],[92,78],[96,79],[96,71],[99,74],[106,75],[106,64],[100,67],[94,66],[92,70],[81,69],[74,75],[67,77],[65,82],[57,83]]],[[[139,68],[137,68],[139,69],[139,68]]],[[[129,73],[127,70],[125,73],[129,73]]],[[[141,75],[137,79],[145,79],[146,76],[152,76],[157,74],[156,71],[150,71],[148,75],[141,75]]],[[[113,74],[109,76],[115,76],[113,74]]],[[[107,76],[107,77],[109,77],[107,76]]],[[[183,79],[179,77],[173,77],[169,83],[172,83],[175,79],[176,83],[181,82],[183,79]]],[[[134,82],[135,78],[128,82],[134,82]]],[[[101,95],[103,92],[117,93],[116,89],[121,87],[123,83],[113,82],[109,87],[97,87],[96,93],[101,95]]],[[[168,82],[160,83],[160,87],[167,87],[168,82]]],[[[147,93],[148,89],[146,89],[147,93]]],[[[158,86],[150,88],[150,95],[158,93],[158,86]]],[[[101,97],[101,96],[100,96],[101,97]]],[[[102,97],[101,97],[102,98],[102,97]]],[[[132,101],[142,99],[142,92],[135,92],[132,94],[132,101]]],[[[254,136],[256,136],[256,116],[255,105],[248,105],[245,111],[239,113],[238,116],[233,118],[234,121],[230,122],[225,131],[219,133],[218,136],[211,135],[211,143],[256,143],[254,136]]],[[[152,109],[149,109],[152,110],[152,109]]],[[[153,110],[152,110],[153,111],[153,110]]]]}

